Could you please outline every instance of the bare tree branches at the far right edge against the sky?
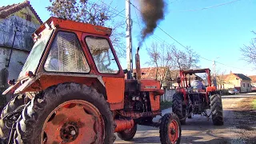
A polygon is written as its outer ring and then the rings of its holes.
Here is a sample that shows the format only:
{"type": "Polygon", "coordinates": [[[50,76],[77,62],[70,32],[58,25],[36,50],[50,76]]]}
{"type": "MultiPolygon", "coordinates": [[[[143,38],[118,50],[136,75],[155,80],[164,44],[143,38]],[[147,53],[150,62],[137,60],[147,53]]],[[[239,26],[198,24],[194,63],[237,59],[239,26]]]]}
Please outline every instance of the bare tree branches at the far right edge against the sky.
{"type": "MultiPolygon", "coordinates": [[[[254,31],[252,31],[256,34],[254,31]]],[[[248,62],[254,64],[256,66],[256,38],[252,38],[249,45],[244,45],[241,49],[242,58],[248,62]]]]}

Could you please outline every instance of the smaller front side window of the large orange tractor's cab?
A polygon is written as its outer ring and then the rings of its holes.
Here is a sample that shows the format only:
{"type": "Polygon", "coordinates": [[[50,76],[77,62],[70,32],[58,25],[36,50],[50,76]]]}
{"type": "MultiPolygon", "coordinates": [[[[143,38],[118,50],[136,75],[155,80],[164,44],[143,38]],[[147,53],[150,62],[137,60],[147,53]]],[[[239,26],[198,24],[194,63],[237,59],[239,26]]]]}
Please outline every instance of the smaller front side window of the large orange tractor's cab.
{"type": "Polygon", "coordinates": [[[100,73],[117,74],[118,64],[106,38],[86,37],[86,44],[100,73]]]}

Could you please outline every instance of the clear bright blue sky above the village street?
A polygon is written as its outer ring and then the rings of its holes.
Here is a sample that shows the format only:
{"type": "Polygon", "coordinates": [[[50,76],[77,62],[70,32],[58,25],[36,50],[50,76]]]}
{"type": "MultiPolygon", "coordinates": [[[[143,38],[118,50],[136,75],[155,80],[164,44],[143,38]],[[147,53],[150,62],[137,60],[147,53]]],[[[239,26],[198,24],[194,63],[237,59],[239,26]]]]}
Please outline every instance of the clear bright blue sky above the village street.
{"type": "MultiPolygon", "coordinates": [[[[94,1],[94,0],[91,0],[94,1]]],[[[2,1],[0,6],[23,2],[23,0],[2,1]]],[[[118,20],[126,21],[126,0],[99,0],[102,5],[109,4],[110,8],[117,11],[118,20]],[[113,1],[113,2],[112,2],[113,1]],[[104,2],[104,3],[103,3],[104,2]]],[[[137,0],[130,0],[138,6],[137,0]]],[[[213,67],[216,61],[216,70],[219,73],[242,73],[256,75],[253,65],[242,60],[240,48],[249,45],[251,38],[256,35],[256,0],[165,0],[165,18],[158,23],[159,28],[143,43],[140,50],[141,67],[149,61],[146,47],[152,42],[166,42],[174,44],[178,49],[185,50],[183,46],[190,46],[199,55],[198,66],[201,68],[213,67]],[[167,34],[172,38],[170,38],[167,34]],[[207,59],[207,60],[206,60],[207,59]]],[[[49,0],[30,0],[30,4],[37,11],[42,21],[50,17],[46,6],[49,0]]],[[[143,26],[140,12],[131,6],[133,49],[138,47],[138,38],[143,26]],[[137,15],[138,16],[137,16],[137,15]]],[[[125,29],[124,29],[125,32],[125,29]]],[[[126,69],[126,60],[121,58],[121,65],[126,69]]]]}

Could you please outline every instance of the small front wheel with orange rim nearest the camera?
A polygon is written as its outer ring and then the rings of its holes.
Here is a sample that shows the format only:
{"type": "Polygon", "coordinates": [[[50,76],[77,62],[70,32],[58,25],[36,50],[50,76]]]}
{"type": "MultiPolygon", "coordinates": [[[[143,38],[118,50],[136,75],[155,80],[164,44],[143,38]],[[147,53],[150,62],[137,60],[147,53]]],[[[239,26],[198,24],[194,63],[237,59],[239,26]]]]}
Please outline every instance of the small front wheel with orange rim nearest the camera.
{"type": "Polygon", "coordinates": [[[159,133],[162,144],[180,143],[182,129],[178,116],[176,114],[165,114],[162,117],[159,133]]]}

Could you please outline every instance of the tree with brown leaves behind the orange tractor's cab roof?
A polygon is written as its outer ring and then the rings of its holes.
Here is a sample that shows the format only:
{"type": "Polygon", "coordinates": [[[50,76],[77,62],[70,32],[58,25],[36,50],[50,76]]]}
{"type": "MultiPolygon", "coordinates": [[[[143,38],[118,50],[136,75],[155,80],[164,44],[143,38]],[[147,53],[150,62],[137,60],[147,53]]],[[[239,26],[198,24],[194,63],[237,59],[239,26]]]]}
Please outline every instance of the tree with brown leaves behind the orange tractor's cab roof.
{"type": "Polygon", "coordinates": [[[125,56],[126,47],[122,42],[125,34],[120,30],[125,26],[125,22],[115,21],[117,12],[110,9],[109,5],[98,1],[90,2],[90,0],[50,0],[50,2],[51,6],[46,9],[53,16],[112,28],[110,39],[113,46],[119,57],[125,56]]]}

